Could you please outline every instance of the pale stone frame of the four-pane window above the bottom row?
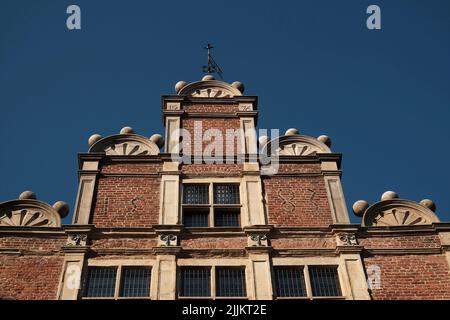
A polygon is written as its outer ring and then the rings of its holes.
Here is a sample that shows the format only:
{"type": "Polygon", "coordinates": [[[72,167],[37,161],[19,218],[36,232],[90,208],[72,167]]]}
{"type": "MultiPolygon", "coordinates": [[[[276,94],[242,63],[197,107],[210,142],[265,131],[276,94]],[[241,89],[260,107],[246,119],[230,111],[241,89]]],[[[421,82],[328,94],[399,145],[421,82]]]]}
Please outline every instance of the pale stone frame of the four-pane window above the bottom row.
{"type": "Polygon", "coordinates": [[[184,224],[184,209],[186,208],[202,208],[206,211],[207,208],[209,208],[209,214],[208,214],[208,226],[207,227],[200,227],[200,228],[242,228],[244,224],[244,217],[243,217],[243,208],[244,204],[246,203],[245,194],[243,193],[243,185],[242,185],[242,179],[241,178],[187,178],[183,179],[180,183],[181,185],[181,192],[180,192],[180,221],[184,224]],[[183,186],[186,184],[207,184],[208,185],[208,204],[184,204],[183,203],[183,197],[184,197],[184,189],[183,186]],[[214,203],[214,185],[217,184],[236,184],[239,185],[239,204],[215,204],[214,203]],[[231,227],[217,227],[214,224],[214,209],[216,208],[232,208],[232,209],[238,209],[239,208],[239,226],[231,226],[231,227]]]}

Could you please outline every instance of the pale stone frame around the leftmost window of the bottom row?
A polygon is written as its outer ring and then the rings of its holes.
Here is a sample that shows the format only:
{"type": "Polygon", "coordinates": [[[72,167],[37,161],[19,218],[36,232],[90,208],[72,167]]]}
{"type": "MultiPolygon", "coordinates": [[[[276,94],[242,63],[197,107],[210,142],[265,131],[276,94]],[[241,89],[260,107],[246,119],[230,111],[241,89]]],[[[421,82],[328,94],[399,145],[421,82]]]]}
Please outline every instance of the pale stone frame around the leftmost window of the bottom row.
{"type": "MultiPolygon", "coordinates": [[[[85,267],[85,275],[90,267],[114,267],[116,268],[116,280],[114,296],[112,297],[85,297],[84,290],[86,289],[86,281],[83,281],[81,289],[81,299],[82,300],[133,300],[133,299],[152,299],[152,292],[154,290],[154,279],[156,275],[155,261],[154,260],[134,260],[134,259],[114,259],[114,260],[89,260],[87,266],[85,267]],[[150,268],[150,288],[148,297],[121,297],[120,285],[122,280],[122,269],[123,267],[143,267],[150,268]]],[[[86,279],[85,279],[86,280],[86,279]]]]}

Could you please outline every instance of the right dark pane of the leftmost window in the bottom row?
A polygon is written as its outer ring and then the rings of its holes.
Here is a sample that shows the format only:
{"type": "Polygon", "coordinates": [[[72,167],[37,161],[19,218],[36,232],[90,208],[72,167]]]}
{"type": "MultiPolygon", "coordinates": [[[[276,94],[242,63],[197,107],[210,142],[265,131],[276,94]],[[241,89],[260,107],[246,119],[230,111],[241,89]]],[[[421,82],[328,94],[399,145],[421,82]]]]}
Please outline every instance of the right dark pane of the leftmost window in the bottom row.
{"type": "Polygon", "coordinates": [[[121,297],[148,297],[150,295],[150,268],[123,267],[121,297]]]}

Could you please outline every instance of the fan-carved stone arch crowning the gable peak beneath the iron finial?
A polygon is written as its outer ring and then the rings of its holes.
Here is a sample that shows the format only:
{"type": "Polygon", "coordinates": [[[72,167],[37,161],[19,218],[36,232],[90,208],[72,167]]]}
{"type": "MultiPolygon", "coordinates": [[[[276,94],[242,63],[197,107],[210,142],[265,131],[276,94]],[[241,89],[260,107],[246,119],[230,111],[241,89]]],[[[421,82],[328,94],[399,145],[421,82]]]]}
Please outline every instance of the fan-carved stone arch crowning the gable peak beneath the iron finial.
{"type": "Polygon", "coordinates": [[[178,95],[194,98],[233,98],[242,93],[229,83],[218,80],[192,82],[178,91],[178,95]]]}

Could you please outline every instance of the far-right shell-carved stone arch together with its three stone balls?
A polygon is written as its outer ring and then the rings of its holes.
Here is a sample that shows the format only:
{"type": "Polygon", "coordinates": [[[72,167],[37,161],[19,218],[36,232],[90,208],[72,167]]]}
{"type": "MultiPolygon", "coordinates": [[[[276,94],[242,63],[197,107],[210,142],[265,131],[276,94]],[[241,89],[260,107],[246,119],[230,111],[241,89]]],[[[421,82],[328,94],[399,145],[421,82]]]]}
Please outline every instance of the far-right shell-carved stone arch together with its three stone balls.
{"type": "Polygon", "coordinates": [[[431,200],[417,203],[398,199],[393,191],[385,192],[381,201],[372,206],[364,200],[353,205],[353,212],[362,216],[362,225],[366,227],[415,226],[439,222],[433,210],[435,206],[431,200]]]}

